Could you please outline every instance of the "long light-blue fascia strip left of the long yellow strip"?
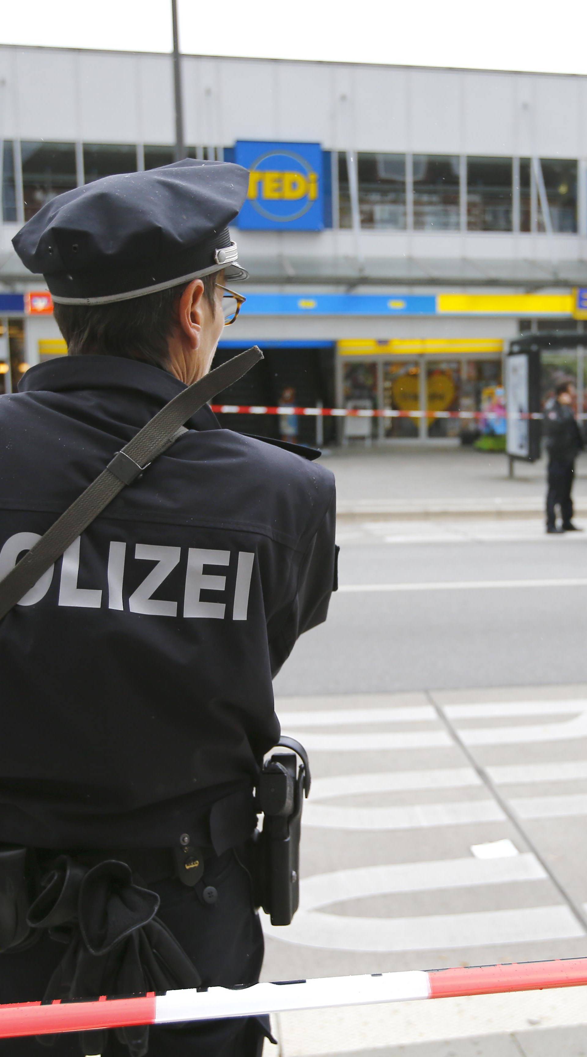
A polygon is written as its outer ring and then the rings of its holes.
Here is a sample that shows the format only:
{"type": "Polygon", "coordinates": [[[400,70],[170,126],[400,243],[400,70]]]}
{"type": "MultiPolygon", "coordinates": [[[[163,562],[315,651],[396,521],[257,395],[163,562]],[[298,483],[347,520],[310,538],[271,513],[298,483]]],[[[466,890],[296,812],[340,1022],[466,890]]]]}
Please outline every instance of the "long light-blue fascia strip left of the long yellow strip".
{"type": "Polygon", "coordinates": [[[249,316],[433,316],[432,294],[248,294],[249,316]]]}

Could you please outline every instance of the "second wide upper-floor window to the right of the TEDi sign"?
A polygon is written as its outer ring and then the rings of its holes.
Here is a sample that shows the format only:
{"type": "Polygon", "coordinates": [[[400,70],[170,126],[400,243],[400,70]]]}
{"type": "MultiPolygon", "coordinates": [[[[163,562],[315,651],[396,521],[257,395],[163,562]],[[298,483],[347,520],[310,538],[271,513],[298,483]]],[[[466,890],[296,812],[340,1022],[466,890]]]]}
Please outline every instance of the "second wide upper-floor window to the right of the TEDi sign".
{"type": "Polygon", "coordinates": [[[456,154],[414,154],[414,228],[457,231],[459,159],[456,154]]]}

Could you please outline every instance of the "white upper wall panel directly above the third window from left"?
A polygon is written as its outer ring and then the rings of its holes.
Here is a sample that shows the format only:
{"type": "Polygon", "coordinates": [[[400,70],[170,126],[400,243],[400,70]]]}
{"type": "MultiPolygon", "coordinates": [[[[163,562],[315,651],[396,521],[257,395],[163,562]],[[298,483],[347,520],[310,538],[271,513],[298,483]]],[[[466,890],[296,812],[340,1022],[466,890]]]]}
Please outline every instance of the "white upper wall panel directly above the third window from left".
{"type": "Polygon", "coordinates": [[[144,55],[89,52],[80,57],[82,137],[89,143],[136,143],[138,66],[144,55]]]}

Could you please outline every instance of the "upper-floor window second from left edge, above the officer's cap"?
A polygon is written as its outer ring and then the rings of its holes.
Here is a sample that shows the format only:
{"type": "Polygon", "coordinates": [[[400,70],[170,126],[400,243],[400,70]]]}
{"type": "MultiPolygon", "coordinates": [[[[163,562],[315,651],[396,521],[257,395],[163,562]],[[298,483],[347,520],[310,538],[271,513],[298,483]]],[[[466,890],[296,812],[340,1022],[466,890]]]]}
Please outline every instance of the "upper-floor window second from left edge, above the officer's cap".
{"type": "Polygon", "coordinates": [[[23,141],[20,149],[24,219],[30,220],[45,202],[77,187],[75,145],[23,141]]]}

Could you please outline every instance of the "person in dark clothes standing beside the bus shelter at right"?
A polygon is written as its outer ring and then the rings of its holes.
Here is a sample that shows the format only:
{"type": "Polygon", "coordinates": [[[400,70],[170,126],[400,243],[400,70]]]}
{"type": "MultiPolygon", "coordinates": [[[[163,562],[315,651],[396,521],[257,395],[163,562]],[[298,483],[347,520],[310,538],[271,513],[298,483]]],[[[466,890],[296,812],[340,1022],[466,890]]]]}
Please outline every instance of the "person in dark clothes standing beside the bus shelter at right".
{"type": "Polygon", "coordinates": [[[546,498],[547,533],[581,532],[572,522],[572,482],[574,461],[585,447],[583,434],[572,410],[574,387],[561,382],[555,395],[545,407],[546,449],[548,451],[548,493],[546,498]],[[556,507],[563,523],[556,524],[556,507]]]}

